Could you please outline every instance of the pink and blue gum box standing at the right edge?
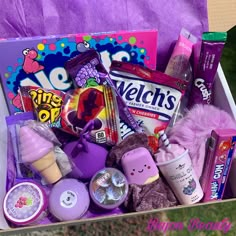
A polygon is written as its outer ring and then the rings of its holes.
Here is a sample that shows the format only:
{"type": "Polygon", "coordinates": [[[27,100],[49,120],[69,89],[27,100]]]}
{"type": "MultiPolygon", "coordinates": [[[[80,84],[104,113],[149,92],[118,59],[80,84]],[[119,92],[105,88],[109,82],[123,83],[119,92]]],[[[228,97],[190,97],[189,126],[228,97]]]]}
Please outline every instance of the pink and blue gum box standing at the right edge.
{"type": "Polygon", "coordinates": [[[200,183],[204,192],[203,202],[223,198],[235,151],[236,130],[212,131],[200,183]]]}

